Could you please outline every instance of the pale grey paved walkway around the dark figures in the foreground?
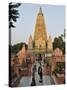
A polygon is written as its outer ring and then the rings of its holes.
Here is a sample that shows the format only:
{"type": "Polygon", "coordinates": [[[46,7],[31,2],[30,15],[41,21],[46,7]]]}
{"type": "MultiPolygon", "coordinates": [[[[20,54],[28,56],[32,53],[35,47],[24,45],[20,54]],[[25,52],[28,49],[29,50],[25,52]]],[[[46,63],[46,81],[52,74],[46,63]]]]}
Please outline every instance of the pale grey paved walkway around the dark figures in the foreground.
{"type": "MultiPolygon", "coordinates": [[[[39,67],[39,63],[36,62],[37,68],[39,67]]],[[[41,86],[41,85],[52,85],[54,84],[53,79],[48,76],[48,75],[44,75],[43,76],[43,82],[40,83],[39,82],[40,77],[38,75],[38,72],[35,72],[35,81],[36,81],[36,86],[41,86]]],[[[25,86],[30,86],[32,82],[32,76],[28,76],[28,77],[22,77],[19,83],[19,87],[25,87],[25,86]]]]}

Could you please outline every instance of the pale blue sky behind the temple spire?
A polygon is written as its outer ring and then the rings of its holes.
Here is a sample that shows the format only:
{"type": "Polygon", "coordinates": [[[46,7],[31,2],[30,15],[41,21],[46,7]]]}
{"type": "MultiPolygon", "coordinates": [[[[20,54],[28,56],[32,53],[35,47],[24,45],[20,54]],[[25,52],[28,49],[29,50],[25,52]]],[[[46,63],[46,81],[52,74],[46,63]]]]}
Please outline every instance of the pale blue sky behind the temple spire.
{"type": "Polygon", "coordinates": [[[35,23],[40,7],[46,23],[46,31],[52,37],[63,34],[65,28],[65,7],[59,5],[22,3],[18,8],[19,18],[11,30],[11,44],[28,43],[30,34],[33,36],[35,23]]]}

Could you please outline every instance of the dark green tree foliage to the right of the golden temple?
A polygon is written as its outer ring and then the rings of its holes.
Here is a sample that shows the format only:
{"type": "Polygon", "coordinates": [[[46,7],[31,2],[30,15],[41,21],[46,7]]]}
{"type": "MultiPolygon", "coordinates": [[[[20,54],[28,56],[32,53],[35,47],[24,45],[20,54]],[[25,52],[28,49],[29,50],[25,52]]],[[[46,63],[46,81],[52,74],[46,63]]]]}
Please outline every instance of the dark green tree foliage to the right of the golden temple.
{"type": "Polygon", "coordinates": [[[64,42],[62,36],[54,38],[53,50],[55,50],[56,48],[60,48],[62,50],[63,54],[65,54],[65,42],[64,42]]]}

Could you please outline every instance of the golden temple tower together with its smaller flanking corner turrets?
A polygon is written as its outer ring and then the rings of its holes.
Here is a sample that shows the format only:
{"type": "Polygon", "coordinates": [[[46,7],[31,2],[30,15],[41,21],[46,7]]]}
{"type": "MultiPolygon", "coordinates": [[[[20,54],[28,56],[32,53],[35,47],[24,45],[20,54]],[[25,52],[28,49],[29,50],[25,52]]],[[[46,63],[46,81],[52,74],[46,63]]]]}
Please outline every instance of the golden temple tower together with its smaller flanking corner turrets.
{"type": "Polygon", "coordinates": [[[47,37],[46,22],[41,7],[36,18],[34,37],[30,35],[28,40],[28,50],[35,52],[53,50],[51,36],[47,37]]]}

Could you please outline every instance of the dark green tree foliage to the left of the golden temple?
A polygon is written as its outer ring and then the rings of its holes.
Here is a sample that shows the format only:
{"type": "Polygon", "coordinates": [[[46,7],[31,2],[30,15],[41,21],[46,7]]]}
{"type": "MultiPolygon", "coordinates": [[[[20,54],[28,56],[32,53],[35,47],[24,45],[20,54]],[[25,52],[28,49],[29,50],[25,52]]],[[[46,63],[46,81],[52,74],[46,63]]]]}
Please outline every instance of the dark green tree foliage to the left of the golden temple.
{"type": "Polygon", "coordinates": [[[12,54],[16,54],[19,50],[22,49],[23,45],[25,45],[25,48],[27,50],[27,48],[28,48],[27,44],[25,44],[25,43],[18,43],[18,44],[15,44],[15,45],[11,46],[11,53],[12,54]]]}

